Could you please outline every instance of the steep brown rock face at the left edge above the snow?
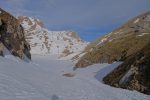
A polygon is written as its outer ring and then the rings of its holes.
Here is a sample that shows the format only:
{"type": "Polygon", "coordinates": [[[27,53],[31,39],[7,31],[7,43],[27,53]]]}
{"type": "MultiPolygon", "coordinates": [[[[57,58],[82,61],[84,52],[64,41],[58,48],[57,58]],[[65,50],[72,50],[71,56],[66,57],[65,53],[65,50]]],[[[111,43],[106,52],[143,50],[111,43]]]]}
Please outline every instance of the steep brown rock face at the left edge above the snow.
{"type": "Polygon", "coordinates": [[[3,55],[4,48],[11,54],[21,59],[31,59],[30,46],[24,37],[24,30],[18,20],[0,9],[0,54],[3,55]]]}

